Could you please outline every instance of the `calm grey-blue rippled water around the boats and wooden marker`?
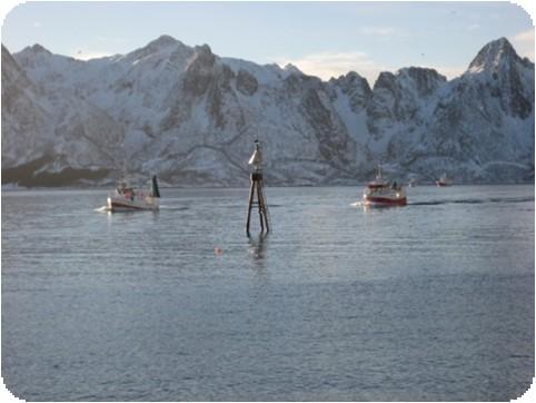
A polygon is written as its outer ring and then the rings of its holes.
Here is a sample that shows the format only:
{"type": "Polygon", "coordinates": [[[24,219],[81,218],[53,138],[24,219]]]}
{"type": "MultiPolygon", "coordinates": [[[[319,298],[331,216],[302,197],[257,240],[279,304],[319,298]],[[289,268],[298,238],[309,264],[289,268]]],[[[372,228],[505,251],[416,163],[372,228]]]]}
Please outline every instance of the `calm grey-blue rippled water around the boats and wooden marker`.
{"type": "Polygon", "coordinates": [[[2,191],[2,376],[31,401],[504,401],[534,375],[534,186],[2,191]],[[254,220],[257,224],[257,219],[254,220]],[[257,228],[256,228],[257,229],[257,228]],[[256,230],[254,230],[256,233],[256,230]],[[221,248],[221,253],[215,253],[221,248]]]}

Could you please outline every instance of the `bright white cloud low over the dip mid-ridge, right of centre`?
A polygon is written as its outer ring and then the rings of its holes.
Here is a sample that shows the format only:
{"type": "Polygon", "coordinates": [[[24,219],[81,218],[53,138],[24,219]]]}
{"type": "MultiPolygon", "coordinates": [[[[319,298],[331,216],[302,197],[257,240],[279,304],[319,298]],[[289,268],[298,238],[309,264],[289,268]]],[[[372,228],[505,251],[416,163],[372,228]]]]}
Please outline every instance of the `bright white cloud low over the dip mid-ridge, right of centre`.
{"type": "Polygon", "coordinates": [[[280,59],[278,62],[282,66],[295,65],[306,75],[317,76],[324,80],[356,71],[370,85],[374,85],[380,71],[390,70],[371,60],[367,53],[359,51],[318,52],[298,59],[280,59]]]}

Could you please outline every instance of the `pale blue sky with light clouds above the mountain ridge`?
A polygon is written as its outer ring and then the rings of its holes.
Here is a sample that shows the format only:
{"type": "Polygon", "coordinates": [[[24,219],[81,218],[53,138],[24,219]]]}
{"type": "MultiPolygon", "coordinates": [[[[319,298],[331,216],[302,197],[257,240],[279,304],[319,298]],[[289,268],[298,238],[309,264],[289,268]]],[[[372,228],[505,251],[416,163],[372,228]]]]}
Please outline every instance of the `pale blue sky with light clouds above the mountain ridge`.
{"type": "Polygon", "coordinates": [[[460,75],[506,37],[534,61],[534,6],[510,2],[26,2],[2,1],[1,41],[80,59],[127,53],[161,35],[257,63],[292,63],[329,79],[408,66],[460,75]]]}

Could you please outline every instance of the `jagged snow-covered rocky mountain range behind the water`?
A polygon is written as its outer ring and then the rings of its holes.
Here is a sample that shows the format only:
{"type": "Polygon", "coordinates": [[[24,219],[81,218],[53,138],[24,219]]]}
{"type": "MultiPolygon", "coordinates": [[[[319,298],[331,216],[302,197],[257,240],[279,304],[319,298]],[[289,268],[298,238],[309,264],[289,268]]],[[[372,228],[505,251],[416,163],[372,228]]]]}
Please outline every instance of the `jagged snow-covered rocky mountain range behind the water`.
{"type": "Polygon", "coordinates": [[[169,36],[89,61],[2,47],[2,183],[244,185],[255,139],[272,185],[355,183],[377,163],[399,179],[532,180],[534,63],[502,38],[451,81],[410,67],[370,88],[169,36]]]}

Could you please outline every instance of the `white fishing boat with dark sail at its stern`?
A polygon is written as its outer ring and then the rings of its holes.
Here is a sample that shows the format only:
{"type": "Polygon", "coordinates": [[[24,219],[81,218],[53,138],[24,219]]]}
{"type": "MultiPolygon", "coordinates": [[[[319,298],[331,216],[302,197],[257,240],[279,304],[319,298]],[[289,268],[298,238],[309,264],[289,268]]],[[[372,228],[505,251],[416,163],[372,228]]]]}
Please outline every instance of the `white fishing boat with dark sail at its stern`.
{"type": "Polygon", "coordinates": [[[135,212],[135,210],[158,210],[160,190],[158,189],[157,177],[151,178],[149,189],[141,189],[127,180],[122,180],[116,190],[108,195],[107,209],[109,212],[135,212]]]}

